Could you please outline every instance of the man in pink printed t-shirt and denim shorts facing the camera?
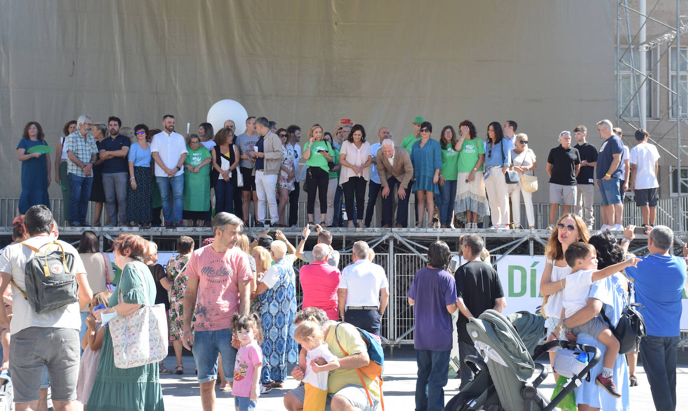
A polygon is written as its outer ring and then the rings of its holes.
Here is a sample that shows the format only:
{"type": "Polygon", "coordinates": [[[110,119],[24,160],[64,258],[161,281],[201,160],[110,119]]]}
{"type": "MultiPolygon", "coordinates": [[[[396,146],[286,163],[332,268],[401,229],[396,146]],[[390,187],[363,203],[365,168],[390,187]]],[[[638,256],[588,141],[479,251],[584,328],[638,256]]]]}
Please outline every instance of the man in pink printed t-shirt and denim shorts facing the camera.
{"type": "Polygon", "coordinates": [[[234,377],[237,350],[231,345],[232,316],[237,312],[248,314],[253,274],[248,255],[235,246],[241,225],[236,215],[217,213],[212,224],[215,241],[194,251],[184,271],[189,283],[184,294],[182,343],[193,352],[198,367],[204,411],[215,407],[218,353],[222,354],[224,377],[228,381],[234,377]],[[196,322],[192,335],[189,325],[194,309],[196,322]]]}

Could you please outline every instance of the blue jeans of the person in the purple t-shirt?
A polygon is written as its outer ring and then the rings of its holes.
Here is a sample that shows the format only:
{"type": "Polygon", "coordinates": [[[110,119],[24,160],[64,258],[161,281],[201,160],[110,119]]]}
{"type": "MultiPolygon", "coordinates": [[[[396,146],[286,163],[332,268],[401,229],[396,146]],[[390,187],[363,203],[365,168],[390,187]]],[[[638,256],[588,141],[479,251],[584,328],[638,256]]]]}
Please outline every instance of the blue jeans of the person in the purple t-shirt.
{"type": "Polygon", "coordinates": [[[442,411],[444,386],[449,378],[450,351],[416,350],[416,411],[442,411]]]}

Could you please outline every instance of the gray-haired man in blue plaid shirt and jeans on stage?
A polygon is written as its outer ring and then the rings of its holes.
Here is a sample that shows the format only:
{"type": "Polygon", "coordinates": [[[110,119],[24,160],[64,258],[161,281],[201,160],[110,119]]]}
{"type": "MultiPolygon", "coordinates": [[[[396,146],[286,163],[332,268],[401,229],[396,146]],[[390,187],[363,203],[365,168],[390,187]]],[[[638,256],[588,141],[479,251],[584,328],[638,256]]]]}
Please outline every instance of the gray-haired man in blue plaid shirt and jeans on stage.
{"type": "Polygon", "coordinates": [[[79,116],[76,131],[67,136],[67,176],[69,176],[69,224],[89,226],[86,222],[88,201],[93,184],[93,165],[98,160],[96,138],[91,134],[93,121],[89,116],[79,116]]]}

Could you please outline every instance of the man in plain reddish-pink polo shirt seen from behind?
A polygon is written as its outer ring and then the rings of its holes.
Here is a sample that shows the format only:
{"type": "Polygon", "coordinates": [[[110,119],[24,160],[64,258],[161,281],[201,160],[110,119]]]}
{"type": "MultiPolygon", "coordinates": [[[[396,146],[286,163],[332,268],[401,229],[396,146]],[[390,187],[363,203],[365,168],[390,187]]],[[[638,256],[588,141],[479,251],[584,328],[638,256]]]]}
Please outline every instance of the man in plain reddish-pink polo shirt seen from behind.
{"type": "Polygon", "coordinates": [[[303,289],[303,308],[316,307],[327,313],[327,317],[337,321],[337,288],[339,287],[338,268],[327,264],[330,248],[327,244],[313,247],[314,262],[299,270],[299,282],[303,289]]]}

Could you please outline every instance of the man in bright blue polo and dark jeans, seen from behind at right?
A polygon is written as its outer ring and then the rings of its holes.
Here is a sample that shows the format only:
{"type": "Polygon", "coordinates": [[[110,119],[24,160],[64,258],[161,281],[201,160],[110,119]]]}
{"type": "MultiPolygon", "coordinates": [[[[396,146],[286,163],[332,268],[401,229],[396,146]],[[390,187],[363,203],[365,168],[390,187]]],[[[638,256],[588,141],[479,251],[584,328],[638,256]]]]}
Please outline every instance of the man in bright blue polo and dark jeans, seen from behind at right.
{"type": "MultiPolygon", "coordinates": [[[[630,233],[628,240],[634,239],[634,228],[628,226],[624,237],[630,233]]],[[[633,280],[636,302],[645,306],[643,318],[647,335],[641,339],[640,353],[654,407],[676,410],[676,352],[686,261],[685,257],[671,255],[674,232],[669,227],[649,227],[648,231],[649,257],[643,258],[636,267],[626,268],[625,272],[633,280]]],[[[683,254],[688,255],[686,246],[683,254]]]]}

